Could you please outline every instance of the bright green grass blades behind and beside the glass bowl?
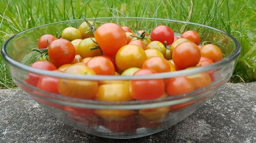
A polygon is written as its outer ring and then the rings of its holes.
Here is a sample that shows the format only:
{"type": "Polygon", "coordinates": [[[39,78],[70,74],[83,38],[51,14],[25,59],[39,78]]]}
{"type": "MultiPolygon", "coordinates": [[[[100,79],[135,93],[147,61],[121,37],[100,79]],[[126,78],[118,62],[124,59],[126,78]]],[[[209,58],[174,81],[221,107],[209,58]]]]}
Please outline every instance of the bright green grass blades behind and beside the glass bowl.
{"type": "MultiPolygon", "coordinates": [[[[230,82],[256,80],[254,0],[1,0],[0,44],[38,25],[90,17],[154,17],[190,21],[219,28],[237,38],[242,51],[230,82]]],[[[0,56],[0,88],[13,88],[0,56]]]]}

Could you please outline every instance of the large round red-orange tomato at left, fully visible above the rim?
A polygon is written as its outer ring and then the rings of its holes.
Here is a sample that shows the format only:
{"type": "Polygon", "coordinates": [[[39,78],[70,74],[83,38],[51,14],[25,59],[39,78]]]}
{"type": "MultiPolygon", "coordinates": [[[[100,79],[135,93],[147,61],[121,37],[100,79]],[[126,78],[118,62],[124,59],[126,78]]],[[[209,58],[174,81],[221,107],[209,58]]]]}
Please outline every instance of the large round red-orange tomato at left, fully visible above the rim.
{"type": "Polygon", "coordinates": [[[48,48],[48,56],[51,62],[59,67],[64,64],[70,64],[76,55],[73,44],[65,39],[53,41],[48,48]]]}

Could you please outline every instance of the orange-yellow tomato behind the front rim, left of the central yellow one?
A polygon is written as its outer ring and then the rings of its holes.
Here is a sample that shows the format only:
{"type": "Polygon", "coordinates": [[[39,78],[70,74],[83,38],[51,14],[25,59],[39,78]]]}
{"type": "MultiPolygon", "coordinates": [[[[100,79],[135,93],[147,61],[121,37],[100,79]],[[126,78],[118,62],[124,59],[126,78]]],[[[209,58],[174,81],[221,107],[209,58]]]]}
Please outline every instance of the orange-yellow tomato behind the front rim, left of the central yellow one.
{"type": "MultiPolygon", "coordinates": [[[[74,64],[65,70],[66,73],[95,75],[95,72],[86,65],[74,64]]],[[[61,95],[94,99],[98,92],[98,82],[88,80],[59,79],[58,91],[61,95]]]]}

